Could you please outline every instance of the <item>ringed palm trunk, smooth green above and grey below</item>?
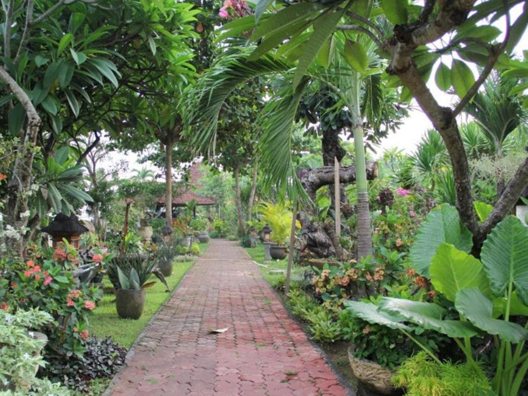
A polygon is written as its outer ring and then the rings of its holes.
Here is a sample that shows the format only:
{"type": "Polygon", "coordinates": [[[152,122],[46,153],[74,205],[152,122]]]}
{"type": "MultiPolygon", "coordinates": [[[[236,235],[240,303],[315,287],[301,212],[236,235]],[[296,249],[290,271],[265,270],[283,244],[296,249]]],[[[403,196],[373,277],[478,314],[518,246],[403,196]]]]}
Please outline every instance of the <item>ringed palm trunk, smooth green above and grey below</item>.
{"type": "Polygon", "coordinates": [[[356,125],[354,133],[354,152],[356,155],[357,190],[357,258],[372,254],[372,232],[369,212],[369,191],[366,183],[365,148],[363,146],[363,127],[356,125]]]}

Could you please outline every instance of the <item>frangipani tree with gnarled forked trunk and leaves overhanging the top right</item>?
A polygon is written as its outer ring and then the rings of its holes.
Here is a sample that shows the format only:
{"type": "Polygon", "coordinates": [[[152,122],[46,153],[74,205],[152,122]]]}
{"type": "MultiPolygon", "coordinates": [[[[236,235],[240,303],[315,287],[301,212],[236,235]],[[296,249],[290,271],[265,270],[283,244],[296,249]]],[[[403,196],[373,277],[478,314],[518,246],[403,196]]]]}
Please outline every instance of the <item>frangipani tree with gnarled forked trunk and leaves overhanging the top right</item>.
{"type": "Polygon", "coordinates": [[[517,77],[528,76],[528,62],[508,58],[525,30],[528,8],[524,7],[521,15],[513,21],[510,16],[512,7],[525,4],[525,1],[486,0],[476,3],[476,0],[427,0],[419,5],[408,0],[384,0],[380,8],[374,8],[373,2],[368,0],[337,0],[277,4],[277,12],[266,14],[264,12],[272,2],[260,0],[255,17],[246,16],[224,26],[228,30],[224,36],[254,29],[252,40],[258,40],[260,44],[254,50],[252,60],[277,47],[278,53],[287,53],[288,61],[295,68],[294,90],[303,86],[310,65],[318,54],[327,51],[326,42],[336,30],[369,37],[380,55],[388,59],[384,77],[393,86],[403,86],[402,98],[417,100],[444,139],[454,173],[457,209],[474,235],[475,251],[478,252],[486,234],[504,218],[528,185],[528,159],[506,185],[492,215],[479,224],[473,209],[467,155],[456,117],[494,68],[517,77]],[[488,18],[501,20],[505,29],[501,31],[483,23],[488,18]],[[382,29],[386,24],[392,26],[391,34],[382,29]],[[501,33],[504,33],[503,40],[497,42],[501,33]],[[433,43],[440,48],[433,47],[433,43]],[[440,56],[443,59],[451,56],[451,67],[439,62],[440,56]],[[474,77],[468,63],[482,67],[478,78],[474,77]],[[459,96],[454,107],[442,107],[427,87],[433,71],[440,89],[447,91],[452,87],[459,96]]]}

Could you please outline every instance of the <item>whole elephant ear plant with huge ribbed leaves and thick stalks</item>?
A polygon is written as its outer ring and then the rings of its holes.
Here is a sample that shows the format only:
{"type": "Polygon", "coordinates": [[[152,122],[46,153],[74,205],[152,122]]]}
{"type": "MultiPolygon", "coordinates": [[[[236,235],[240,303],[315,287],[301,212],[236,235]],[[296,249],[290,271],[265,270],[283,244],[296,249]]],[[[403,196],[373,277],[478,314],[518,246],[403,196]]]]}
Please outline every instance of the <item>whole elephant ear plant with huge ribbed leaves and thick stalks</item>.
{"type": "Polygon", "coordinates": [[[432,329],[454,338],[473,363],[472,337],[488,335],[497,348],[493,386],[500,396],[518,394],[528,371],[526,326],[511,322],[528,314],[528,228],[508,216],[488,235],[480,260],[468,252],[470,234],[449,205],[431,211],[411,249],[413,267],[428,276],[458,317],[438,304],[383,297],[378,305],[347,301],[351,313],[370,323],[399,329],[441,363],[411,332],[432,329]],[[446,318],[447,317],[447,318],[446,318]]]}

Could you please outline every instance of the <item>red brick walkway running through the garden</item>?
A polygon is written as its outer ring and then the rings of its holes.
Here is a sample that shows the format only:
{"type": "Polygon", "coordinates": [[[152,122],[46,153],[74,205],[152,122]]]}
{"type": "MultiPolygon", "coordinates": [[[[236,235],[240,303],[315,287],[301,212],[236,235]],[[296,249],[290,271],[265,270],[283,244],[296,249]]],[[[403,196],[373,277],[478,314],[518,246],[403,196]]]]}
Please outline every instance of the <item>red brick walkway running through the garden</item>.
{"type": "Polygon", "coordinates": [[[348,392],[288,317],[248,254],[237,242],[212,240],[133,348],[107,394],[348,392]],[[224,327],[229,330],[223,334],[209,334],[209,329],[224,327]]]}

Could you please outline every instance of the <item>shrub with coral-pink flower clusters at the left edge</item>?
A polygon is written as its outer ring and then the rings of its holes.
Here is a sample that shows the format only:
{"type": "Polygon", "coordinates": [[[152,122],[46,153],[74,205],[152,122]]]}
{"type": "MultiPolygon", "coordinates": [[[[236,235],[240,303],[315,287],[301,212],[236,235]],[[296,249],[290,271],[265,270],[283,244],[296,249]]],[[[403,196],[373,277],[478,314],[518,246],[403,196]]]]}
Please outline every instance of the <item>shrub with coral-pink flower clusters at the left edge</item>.
{"type": "Polygon", "coordinates": [[[2,285],[6,289],[0,295],[0,306],[8,312],[39,308],[50,313],[54,322],[46,325],[48,347],[67,356],[86,351],[88,315],[101,298],[97,288],[78,285],[74,279],[78,262],[77,251],[65,245],[44,253],[42,259],[16,263],[6,272],[2,285]]]}

